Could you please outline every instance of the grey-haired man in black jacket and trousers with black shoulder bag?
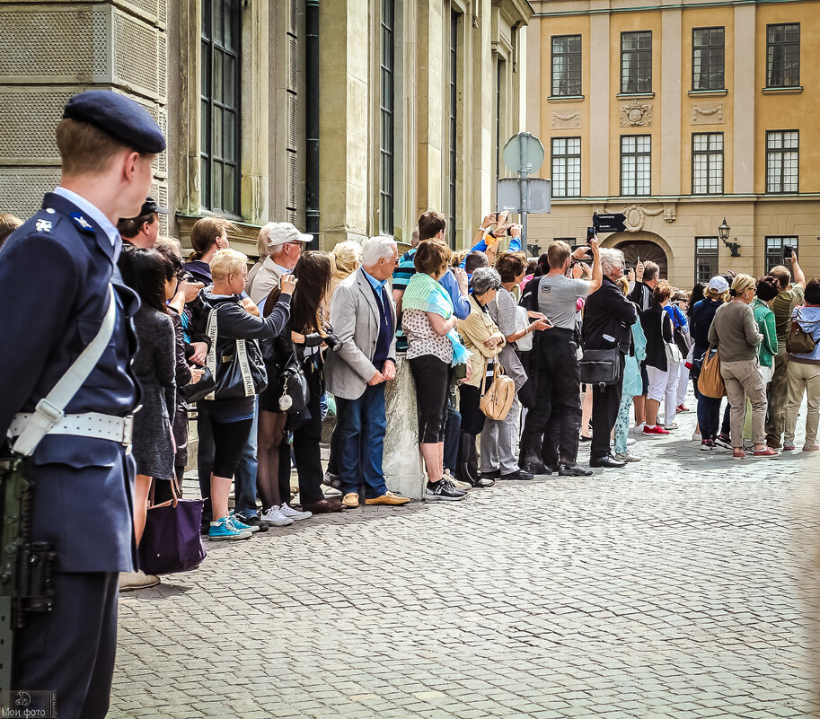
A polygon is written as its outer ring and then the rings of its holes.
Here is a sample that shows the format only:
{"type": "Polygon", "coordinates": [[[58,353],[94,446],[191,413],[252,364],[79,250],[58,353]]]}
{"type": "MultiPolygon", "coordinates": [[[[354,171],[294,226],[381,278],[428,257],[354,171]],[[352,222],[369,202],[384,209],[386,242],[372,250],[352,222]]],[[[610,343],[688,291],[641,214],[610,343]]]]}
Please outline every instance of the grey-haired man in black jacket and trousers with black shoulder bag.
{"type": "Polygon", "coordinates": [[[617,347],[621,364],[620,378],[614,384],[592,388],[592,446],[589,466],[617,468],[626,465],[616,460],[609,448],[609,436],[618,418],[623,386],[623,367],[630,354],[632,330],[638,320],[638,311],[617,284],[623,274],[623,252],[600,250],[604,278],[597,292],[590,294],[584,305],[584,349],[613,349],[617,347]]]}

